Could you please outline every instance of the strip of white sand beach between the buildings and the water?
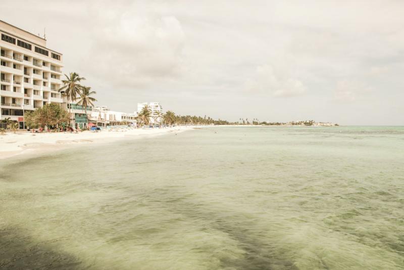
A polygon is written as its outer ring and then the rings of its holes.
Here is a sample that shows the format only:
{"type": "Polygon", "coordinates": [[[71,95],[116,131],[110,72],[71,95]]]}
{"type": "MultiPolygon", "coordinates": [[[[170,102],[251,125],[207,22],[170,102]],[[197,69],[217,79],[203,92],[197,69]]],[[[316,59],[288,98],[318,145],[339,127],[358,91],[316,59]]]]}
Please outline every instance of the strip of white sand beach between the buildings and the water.
{"type": "Polygon", "coordinates": [[[43,153],[51,150],[61,150],[80,144],[110,143],[123,139],[150,138],[192,129],[191,126],[176,126],[172,128],[129,129],[126,131],[83,131],[80,133],[32,133],[7,132],[0,134],[0,159],[21,155],[43,153]]]}

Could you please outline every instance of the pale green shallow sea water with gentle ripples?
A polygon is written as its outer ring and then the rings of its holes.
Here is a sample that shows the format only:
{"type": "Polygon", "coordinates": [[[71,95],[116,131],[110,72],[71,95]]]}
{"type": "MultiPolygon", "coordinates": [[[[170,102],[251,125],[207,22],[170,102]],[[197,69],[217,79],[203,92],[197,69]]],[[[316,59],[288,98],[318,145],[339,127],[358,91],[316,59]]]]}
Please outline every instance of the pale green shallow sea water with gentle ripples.
{"type": "Polygon", "coordinates": [[[0,163],[0,268],[402,269],[403,127],[210,127],[0,163]]]}

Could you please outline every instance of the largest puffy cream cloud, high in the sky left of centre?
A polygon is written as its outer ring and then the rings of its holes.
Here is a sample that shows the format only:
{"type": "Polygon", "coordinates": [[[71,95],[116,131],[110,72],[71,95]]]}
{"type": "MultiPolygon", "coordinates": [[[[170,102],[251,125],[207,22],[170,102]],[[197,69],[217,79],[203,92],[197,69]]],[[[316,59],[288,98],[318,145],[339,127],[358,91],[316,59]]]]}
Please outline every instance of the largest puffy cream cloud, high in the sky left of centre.
{"type": "Polygon", "coordinates": [[[185,34],[175,16],[145,16],[129,8],[93,22],[86,63],[114,86],[143,87],[181,74],[185,34]]]}

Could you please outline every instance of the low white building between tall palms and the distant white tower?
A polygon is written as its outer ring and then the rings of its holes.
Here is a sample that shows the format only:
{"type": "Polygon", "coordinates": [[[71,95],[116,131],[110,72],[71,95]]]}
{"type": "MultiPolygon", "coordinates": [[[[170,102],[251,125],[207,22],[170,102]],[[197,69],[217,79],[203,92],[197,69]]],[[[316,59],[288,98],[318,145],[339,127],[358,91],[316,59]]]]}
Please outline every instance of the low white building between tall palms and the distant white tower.
{"type": "Polygon", "coordinates": [[[135,125],[136,115],[131,113],[110,111],[107,106],[98,106],[92,109],[90,121],[97,125],[135,125]]]}

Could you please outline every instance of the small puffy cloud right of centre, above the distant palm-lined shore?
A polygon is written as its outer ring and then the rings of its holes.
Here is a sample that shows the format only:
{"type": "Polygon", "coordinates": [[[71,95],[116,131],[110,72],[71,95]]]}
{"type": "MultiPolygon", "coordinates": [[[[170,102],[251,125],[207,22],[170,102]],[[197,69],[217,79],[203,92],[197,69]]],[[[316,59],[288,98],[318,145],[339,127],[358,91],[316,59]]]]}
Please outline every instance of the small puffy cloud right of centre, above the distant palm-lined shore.
{"type": "Polygon", "coordinates": [[[276,72],[271,65],[258,66],[245,87],[250,92],[270,93],[273,97],[296,97],[306,92],[306,86],[300,80],[276,72]]]}

